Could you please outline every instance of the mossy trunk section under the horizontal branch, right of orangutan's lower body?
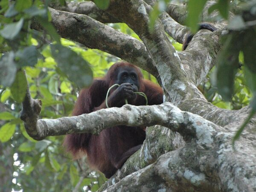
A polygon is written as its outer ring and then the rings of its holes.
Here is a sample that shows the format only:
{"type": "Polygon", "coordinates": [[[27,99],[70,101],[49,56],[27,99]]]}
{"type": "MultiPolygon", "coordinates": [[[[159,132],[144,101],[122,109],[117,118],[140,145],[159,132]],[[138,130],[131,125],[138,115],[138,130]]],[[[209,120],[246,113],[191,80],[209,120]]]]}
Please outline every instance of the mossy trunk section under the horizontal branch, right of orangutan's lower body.
{"type": "Polygon", "coordinates": [[[112,183],[119,182],[125,176],[154,163],[160,155],[181,148],[185,144],[183,137],[169,128],[159,125],[148,127],[146,129],[146,139],[140,150],[125,162],[105,186],[111,186],[112,183]]]}

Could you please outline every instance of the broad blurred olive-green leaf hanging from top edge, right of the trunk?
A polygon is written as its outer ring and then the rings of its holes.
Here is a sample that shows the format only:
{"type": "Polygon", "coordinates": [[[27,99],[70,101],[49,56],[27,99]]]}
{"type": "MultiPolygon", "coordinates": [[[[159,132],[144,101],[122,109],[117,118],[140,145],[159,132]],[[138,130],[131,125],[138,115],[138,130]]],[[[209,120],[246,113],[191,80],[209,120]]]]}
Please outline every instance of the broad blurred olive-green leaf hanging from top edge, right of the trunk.
{"type": "Polygon", "coordinates": [[[188,2],[188,17],[186,18],[186,25],[191,28],[191,32],[195,33],[198,30],[199,15],[204,9],[207,0],[190,0],[188,2]]]}

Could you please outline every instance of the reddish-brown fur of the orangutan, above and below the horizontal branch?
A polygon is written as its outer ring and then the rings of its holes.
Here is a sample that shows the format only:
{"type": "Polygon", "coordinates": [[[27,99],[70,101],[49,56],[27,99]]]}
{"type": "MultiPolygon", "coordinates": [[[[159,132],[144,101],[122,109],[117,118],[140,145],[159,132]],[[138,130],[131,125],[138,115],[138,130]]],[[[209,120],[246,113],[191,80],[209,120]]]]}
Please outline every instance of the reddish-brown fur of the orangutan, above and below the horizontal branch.
{"type": "MultiPolygon", "coordinates": [[[[73,115],[81,115],[106,108],[105,97],[108,88],[114,84],[119,67],[133,67],[138,75],[140,92],[146,94],[148,105],[158,105],[163,102],[161,87],[144,80],[140,69],[127,62],[118,62],[109,70],[105,78],[94,80],[88,89],[79,93],[73,115]]],[[[145,105],[145,98],[137,96],[132,105],[145,105]]],[[[64,145],[74,156],[86,153],[88,162],[111,177],[123,163],[137,151],[145,140],[145,131],[140,127],[116,126],[100,132],[99,136],[81,133],[67,135],[64,145]]]]}

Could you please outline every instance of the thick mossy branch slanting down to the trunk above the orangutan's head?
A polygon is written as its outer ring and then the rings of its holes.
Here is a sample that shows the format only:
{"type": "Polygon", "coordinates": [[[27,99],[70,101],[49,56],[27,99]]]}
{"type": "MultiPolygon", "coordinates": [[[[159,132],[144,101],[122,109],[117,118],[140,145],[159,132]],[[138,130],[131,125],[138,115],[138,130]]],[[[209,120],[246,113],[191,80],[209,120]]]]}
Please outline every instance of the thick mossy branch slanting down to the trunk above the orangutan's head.
{"type": "MultiPolygon", "coordinates": [[[[63,38],[84,44],[91,49],[100,49],[116,55],[158,76],[153,61],[144,44],[129,35],[119,32],[107,25],[75,13],[58,11],[49,8],[52,24],[63,38]]],[[[38,23],[32,23],[32,28],[41,30],[38,23]]]]}

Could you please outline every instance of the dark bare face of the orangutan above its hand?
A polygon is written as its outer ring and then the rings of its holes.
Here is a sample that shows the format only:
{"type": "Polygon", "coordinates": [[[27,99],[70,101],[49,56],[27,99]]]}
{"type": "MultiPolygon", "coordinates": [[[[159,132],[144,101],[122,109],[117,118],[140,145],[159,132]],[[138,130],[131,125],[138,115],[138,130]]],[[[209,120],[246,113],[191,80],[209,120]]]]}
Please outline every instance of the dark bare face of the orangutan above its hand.
{"type": "Polygon", "coordinates": [[[133,92],[137,92],[140,89],[139,79],[137,72],[132,67],[120,67],[117,74],[116,84],[129,83],[131,84],[133,92]]]}

